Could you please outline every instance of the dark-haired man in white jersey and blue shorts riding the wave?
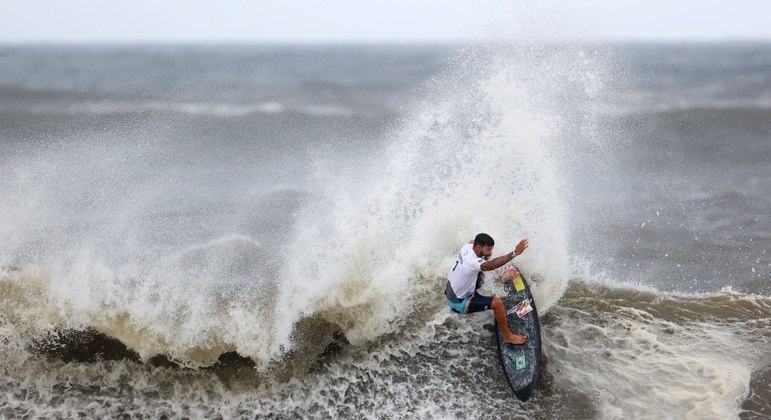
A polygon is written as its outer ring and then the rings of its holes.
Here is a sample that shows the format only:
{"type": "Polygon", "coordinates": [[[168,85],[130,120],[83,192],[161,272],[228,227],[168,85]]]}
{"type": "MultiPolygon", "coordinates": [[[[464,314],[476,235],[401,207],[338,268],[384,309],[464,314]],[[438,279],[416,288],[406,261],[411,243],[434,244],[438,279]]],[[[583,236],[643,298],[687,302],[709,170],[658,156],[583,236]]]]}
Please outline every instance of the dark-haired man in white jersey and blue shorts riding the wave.
{"type": "Polygon", "coordinates": [[[484,271],[495,270],[508,264],[514,257],[525,252],[527,245],[527,239],[523,239],[514,251],[488,261],[493,255],[495,241],[486,233],[478,234],[473,242],[463,245],[460,249],[444,288],[447,304],[454,312],[470,314],[492,309],[503,341],[513,345],[524,344],[527,342],[527,337],[516,335],[509,330],[506,322],[506,308],[501,298],[480,295],[477,289],[482,287],[484,271]]]}

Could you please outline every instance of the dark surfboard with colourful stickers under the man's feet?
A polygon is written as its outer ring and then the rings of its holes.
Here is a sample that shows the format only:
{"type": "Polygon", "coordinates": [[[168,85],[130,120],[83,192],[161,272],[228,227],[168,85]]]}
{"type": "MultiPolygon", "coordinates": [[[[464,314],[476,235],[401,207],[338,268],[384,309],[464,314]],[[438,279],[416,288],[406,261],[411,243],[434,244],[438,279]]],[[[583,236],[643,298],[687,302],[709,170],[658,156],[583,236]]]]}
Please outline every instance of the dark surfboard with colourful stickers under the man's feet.
{"type": "Polygon", "coordinates": [[[496,325],[498,354],[503,373],[514,395],[521,401],[527,401],[538,382],[541,370],[541,326],[538,322],[538,311],[530,287],[521,273],[507,281],[504,288],[501,300],[506,307],[509,329],[514,334],[526,335],[527,343],[520,346],[506,344],[496,325]]]}

